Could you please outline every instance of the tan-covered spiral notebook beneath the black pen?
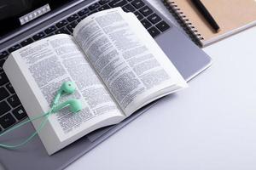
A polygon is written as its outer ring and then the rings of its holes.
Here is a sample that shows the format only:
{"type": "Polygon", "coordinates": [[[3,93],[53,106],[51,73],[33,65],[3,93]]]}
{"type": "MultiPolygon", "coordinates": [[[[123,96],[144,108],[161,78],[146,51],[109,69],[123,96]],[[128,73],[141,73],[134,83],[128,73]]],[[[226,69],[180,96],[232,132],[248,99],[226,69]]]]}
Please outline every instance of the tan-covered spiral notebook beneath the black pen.
{"type": "Polygon", "coordinates": [[[189,37],[201,47],[229,37],[236,32],[256,26],[255,0],[201,0],[217,21],[221,31],[212,30],[207,20],[190,0],[164,0],[189,37]]]}

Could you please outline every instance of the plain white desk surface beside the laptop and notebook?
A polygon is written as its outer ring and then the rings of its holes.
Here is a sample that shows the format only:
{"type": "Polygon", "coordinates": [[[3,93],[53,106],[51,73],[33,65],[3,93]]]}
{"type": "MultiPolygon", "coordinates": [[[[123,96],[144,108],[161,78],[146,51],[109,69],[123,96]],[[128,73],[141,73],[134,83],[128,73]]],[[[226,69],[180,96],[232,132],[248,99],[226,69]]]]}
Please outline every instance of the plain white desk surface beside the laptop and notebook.
{"type": "Polygon", "coordinates": [[[256,27],[203,50],[212,66],[67,170],[255,170],[256,27]]]}

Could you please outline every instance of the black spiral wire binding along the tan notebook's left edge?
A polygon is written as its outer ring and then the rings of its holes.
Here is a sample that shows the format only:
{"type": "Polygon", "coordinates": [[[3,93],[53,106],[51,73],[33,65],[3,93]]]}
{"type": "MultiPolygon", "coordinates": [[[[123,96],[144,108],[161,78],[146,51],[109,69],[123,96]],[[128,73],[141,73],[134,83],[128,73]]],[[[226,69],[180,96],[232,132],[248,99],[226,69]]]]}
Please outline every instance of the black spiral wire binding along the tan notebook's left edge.
{"type": "Polygon", "coordinates": [[[195,26],[189,21],[187,16],[183,14],[180,8],[177,7],[175,1],[163,0],[166,8],[171,12],[173,17],[177,20],[177,23],[183,27],[183,30],[189,35],[191,40],[197,45],[201,46],[201,41],[204,40],[204,37],[195,29],[195,26]]]}

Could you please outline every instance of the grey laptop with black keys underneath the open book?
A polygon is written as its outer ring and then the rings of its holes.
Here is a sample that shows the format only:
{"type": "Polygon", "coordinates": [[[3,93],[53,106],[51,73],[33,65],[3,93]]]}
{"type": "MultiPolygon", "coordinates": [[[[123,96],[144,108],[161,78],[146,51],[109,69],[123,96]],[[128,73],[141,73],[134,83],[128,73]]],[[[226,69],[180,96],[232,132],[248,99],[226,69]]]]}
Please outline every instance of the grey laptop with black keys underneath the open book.
{"type": "MultiPolygon", "coordinates": [[[[146,0],[1,0],[0,133],[27,118],[26,111],[2,68],[9,54],[44,37],[59,33],[72,34],[73,28],[86,16],[115,7],[122,7],[125,12],[136,14],[138,20],[187,81],[211,65],[210,57],[146,0]]],[[[0,164],[4,169],[62,169],[108,139],[137,116],[147,112],[157,102],[145,106],[124,122],[84,136],[53,156],[47,155],[38,137],[17,150],[0,148],[0,164]],[[40,166],[42,163],[44,166],[40,166]]],[[[0,142],[6,142],[9,138],[20,141],[34,131],[32,124],[27,124],[1,137],[0,142]]]]}

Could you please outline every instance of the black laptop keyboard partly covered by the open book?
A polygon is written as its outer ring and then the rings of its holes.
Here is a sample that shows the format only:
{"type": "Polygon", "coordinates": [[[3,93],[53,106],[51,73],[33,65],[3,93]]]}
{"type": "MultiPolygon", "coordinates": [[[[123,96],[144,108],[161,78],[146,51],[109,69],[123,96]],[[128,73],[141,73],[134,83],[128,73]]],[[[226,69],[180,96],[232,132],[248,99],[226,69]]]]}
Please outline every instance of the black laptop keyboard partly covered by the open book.
{"type": "Polygon", "coordinates": [[[20,104],[20,99],[15,94],[14,88],[3,72],[3,63],[8,55],[16,49],[44,37],[61,33],[71,35],[73,28],[86,16],[94,14],[97,11],[115,7],[121,7],[125,12],[136,14],[137,19],[141,21],[152,37],[156,37],[170,28],[165,20],[162,20],[158,14],[154,13],[152,8],[149,8],[147,4],[143,3],[143,0],[100,0],[97,3],[91,4],[88,8],[83,8],[79,12],[67,16],[66,19],[45,28],[44,31],[35,33],[32,37],[28,37],[26,40],[15,44],[7,50],[0,51],[0,132],[3,132],[3,130],[27,117],[26,111],[20,104]]]}

